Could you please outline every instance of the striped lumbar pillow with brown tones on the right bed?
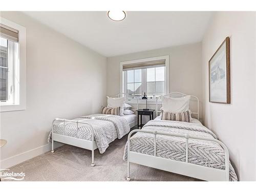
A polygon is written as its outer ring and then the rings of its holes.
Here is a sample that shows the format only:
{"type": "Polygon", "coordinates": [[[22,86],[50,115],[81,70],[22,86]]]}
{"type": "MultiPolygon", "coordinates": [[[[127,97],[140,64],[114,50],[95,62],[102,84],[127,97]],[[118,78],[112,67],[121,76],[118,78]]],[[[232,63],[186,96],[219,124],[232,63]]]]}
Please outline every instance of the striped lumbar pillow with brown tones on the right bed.
{"type": "Polygon", "coordinates": [[[180,113],[172,113],[167,111],[162,111],[162,120],[172,120],[172,121],[184,121],[191,122],[191,111],[184,111],[180,113]]]}

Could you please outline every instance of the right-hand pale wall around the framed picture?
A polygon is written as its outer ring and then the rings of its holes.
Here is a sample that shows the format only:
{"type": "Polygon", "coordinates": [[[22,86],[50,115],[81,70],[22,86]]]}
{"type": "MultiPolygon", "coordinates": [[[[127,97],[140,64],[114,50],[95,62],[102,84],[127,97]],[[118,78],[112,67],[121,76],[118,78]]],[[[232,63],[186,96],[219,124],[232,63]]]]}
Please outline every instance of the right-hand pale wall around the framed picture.
{"type": "Polygon", "coordinates": [[[223,141],[241,181],[255,180],[255,12],[217,12],[202,41],[203,120],[223,141]],[[208,102],[208,61],[230,36],[231,104],[208,102]]]}

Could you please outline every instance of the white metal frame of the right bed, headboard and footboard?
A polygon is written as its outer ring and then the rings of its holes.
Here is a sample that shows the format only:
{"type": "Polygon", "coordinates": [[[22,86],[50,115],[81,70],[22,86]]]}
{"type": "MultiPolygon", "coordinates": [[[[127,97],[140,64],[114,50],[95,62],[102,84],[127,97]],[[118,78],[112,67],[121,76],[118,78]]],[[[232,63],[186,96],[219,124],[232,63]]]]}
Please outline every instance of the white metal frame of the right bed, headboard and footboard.
{"type": "MultiPolygon", "coordinates": [[[[173,94],[180,94],[182,97],[186,96],[186,94],[175,92],[170,93],[166,96],[170,96],[173,94]]],[[[197,114],[197,118],[199,119],[199,99],[196,96],[191,96],[192,98],[197,99],[197,112],[194,112],[193,114],[197,114]]],[[[156,103],[156,111],[158,103],[156,103]]],[[[206,181],[229,181],[229,153],[226,145],[222,143],[221,141],[213,138],[203,138],[203,137],[194,137],[189,136],[188,134],[175,134],[175,133],[165,133],[165,132],[158,132],[158,131],[145,131],[145,130],[133,130],[128,135],[127,139],[127,181],[131,180],[130,177],[130,166],[131,163],[141,164],[148,167],[153,167],[161,170],[165,170],[167,172],[172,172],[180,175],[185,175],[188,177],[193,177],[201,180],[206,181]],[[130,151],[131,149],[131,135],[136,132],[143,132],[143,133],[150,133],[154,134],[155,140],[154,140],[154,156],[153,155],[147,155],[137,152],[130,151]],[[157,135],[166,135],[166,136],[174,136],[174,137],[182,137],[186,139],[186,161],[176,161],[172,159],[166,159],[162,157],[156,156],[157,151],[157,135]],[[198,164],[193,164],[188,162],[188,139],[199,139],[199,140],[207,140],[207,141],[213,141],[219,143],[225,153],[225,169],[218,169],[218,168],[212,168],[212,167],[206,167],[198,164]]]]}

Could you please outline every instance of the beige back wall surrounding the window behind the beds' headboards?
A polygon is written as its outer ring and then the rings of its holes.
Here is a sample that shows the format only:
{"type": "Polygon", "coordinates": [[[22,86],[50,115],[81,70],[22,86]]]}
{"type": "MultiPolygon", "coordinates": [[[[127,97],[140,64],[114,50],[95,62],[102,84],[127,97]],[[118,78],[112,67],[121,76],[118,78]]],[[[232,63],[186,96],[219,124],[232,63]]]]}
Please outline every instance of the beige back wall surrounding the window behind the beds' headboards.
{"type": "MultiPolygon", "coordinates": [[[[169,55],[169,92],[195,95],[200,101],[202,117],[202,45],[189,45],[156,49],[107,59],[107,95],[120,93],[120,62],[156,56],[169,55]]],[[[150,108],[155,109],[154,106],[150,108]]]]}

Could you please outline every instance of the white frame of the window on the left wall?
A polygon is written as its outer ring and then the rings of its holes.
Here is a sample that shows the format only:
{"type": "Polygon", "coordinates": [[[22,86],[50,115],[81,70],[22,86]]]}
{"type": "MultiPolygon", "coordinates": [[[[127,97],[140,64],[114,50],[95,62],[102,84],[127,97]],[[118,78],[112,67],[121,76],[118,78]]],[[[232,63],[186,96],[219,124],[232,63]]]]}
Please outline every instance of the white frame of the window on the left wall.
{"type": "Polygon", "coordinates": [[[6,18],[0,17],[0,23],[18,31],[19,46],[19,83],[17,83],[18,101],[14,104],[0,102],[0,112],[26,110],[26,28],[6,18]]]}

